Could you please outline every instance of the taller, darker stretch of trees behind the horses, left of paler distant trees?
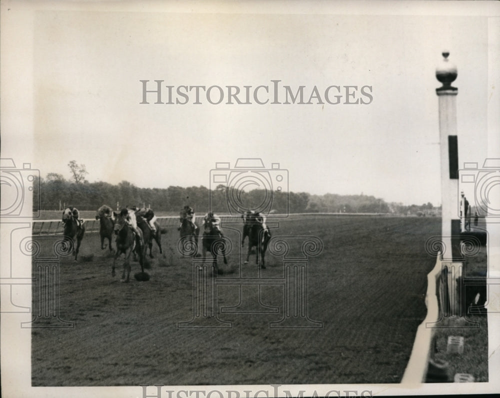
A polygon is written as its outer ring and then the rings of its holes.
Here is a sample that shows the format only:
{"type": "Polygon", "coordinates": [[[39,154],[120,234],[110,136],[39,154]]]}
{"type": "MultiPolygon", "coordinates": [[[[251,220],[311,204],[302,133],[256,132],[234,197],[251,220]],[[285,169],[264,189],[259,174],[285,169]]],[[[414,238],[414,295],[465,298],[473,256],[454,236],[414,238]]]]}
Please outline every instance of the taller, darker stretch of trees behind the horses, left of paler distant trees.
{"type": "MultiPolygon", "coordinates": [[[[74,206],[79,210],[95,210],[103,204],[112,208],[125,206],[150,206],[156,211],[167,211],[178,213],[184,206],[189,205],[196,212],[206,212],[210,208],[219,213],[227,213],[228,201],[231,210],[238,207],[238,203],[246,208],[258,208],[262,203],[271,203],[269,210],[278,213],[286,211],[305,212],[309,194],[290,192],[288,195],[282,192],[271,193],[263,190],[249,192],[235,192],[233,188],[219,185],[213,191],[204,186],[168,188],[139,188],[128,181],[121,181],[117,185],[106,182],[87,181],[77,183],[67,181],[60,175],[53,173],[41,179],[39,184],[39,210],[59,210],[60,206],[74,206]],[[289,210],[288,210],[289,206],[289,210]]],[[[38,192],[34,192],[35,197],[38,192]]],[[[34,201],[35,207],[37,202],[34,201]]],[[[38,209],[34,209],[38,210],[38,209]]]]}

